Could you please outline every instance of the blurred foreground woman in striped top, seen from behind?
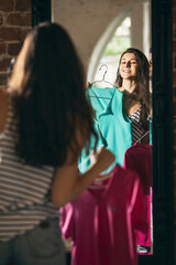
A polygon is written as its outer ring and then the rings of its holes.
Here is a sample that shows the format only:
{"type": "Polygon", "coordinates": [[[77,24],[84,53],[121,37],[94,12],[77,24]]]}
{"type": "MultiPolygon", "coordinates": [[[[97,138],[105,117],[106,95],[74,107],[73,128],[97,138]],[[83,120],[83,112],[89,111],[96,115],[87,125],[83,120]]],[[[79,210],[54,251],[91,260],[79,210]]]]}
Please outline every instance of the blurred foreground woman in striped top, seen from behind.
{"type": "Polygon", "coordinates": [[[102,148],[78,173],[85,142],[97,139],[85,84],[67,32],[56,23],[34,28],[0,92],[1,265],[64,265],[57,208],[113,162],[102,148]]]}

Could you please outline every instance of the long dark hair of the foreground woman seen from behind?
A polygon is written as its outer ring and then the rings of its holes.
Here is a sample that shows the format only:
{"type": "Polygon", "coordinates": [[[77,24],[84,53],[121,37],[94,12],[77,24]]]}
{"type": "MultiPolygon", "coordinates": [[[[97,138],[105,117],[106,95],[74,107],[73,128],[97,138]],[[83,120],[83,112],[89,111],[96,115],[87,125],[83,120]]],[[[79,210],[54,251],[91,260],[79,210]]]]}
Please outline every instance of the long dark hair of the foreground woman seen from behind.
{"type": "MultiPolygon", "coordinates": [[[[82,64],[68,33],[44,22],[26,36],[9,81],[19,117],[19,156],[30,165],[62,166],[80,153],[76,131],[90,144],[94,129],[82,64]]],[[[89,146],[89,145],[88,145],[89,146]]]]}

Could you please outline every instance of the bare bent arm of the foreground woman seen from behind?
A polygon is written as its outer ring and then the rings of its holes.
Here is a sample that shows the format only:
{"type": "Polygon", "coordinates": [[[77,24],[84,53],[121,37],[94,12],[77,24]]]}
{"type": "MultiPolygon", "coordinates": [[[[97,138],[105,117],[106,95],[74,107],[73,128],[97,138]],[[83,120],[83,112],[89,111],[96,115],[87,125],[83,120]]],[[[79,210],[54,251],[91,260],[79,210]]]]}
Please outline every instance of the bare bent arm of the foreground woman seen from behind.
{"type": "MultiPolygon", "coordinates": [[[[76,131],[76,138],[80,147],[80,156],[81,149],[84,148],[87,139],[82,137],[79,129],[76,131]]],[[[52,188],[52,201],[58,208],[78,197],[97,176],[99,176],[114,161],[114,155],[102,147],[95,153],[95,161],[81,176],[79,176],[78,162],[73,163],[70,161],[72,151],[68,150],[66,163],[58,167],[55,172],[52,188]]]]}

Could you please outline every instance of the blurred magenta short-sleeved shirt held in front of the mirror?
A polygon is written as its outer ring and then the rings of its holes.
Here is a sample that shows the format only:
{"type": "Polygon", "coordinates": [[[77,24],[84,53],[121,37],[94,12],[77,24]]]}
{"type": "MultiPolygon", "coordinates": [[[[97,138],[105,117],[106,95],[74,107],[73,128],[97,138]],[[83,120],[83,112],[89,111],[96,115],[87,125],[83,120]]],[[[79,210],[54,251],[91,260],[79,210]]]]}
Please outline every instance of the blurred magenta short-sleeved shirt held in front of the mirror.
{"type": "Polygon", "coordinates": [[[139,176],[119,165],[111,172],[61,209],[63,237],[73,240],[72,265],[138,264],[134,229],[147,230],[139,176]]]}

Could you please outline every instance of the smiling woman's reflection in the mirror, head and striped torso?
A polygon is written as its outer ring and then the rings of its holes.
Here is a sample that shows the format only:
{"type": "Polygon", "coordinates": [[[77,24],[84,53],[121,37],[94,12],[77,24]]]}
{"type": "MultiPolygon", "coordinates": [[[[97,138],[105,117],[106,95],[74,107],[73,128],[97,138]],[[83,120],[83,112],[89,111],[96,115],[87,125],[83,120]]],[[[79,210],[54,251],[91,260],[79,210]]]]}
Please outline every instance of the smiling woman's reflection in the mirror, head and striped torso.
{"type": "MultiPolygon", "coordinates": [[[[130,47],[120,57],[117,87],[123,93],[124,112],[132,121],[133,144],[148,131],[148,61],[138,49],[130,47]]],[[[148,142],[148,134],[141,142],[148,142]]]]}

